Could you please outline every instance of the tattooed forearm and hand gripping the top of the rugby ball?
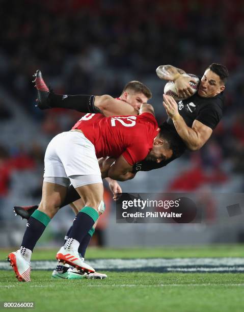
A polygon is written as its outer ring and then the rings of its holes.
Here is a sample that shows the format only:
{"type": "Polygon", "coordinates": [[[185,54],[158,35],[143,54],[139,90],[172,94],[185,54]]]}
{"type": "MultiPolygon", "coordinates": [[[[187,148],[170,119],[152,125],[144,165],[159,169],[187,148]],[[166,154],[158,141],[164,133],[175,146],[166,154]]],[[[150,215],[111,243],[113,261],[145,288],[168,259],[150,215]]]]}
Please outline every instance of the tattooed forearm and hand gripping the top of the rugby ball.
{"type": "Polygon", "coordinates": [[[193,95],[193,89],[189,85],[189,82],[195,81],[192,77],[184,76],[184,70],[172,65],[160,65],[157,67],[156,73],[162,80],[175,82],[179,97],[185,98],[193,95]]]}

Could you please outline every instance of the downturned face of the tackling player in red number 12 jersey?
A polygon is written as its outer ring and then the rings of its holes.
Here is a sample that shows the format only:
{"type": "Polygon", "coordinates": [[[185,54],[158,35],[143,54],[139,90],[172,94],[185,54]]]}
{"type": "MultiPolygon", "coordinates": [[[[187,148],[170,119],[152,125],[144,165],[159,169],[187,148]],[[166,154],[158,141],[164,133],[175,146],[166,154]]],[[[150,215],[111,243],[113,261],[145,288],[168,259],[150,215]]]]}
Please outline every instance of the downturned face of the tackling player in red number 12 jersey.
{"type": "Polygon", "coordinates": [[[172,149],[169,148],[167,142],[163,139],[155,139],[153,142],[153,147],[146,157],[146,160],[160,163],[170,159],[173,155],[172,149]]]}

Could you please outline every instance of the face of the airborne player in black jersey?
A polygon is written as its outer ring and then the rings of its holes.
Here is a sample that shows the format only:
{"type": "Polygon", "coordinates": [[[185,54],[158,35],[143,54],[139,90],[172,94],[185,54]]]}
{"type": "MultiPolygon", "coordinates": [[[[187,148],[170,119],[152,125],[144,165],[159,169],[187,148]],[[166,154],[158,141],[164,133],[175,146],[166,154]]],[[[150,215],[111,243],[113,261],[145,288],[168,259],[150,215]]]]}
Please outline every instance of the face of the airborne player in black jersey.
{"type": "Polygon", "coordinates": [[[198,94],[202,97],[213,97],[221,93],[224,89],[225,86],[220,80],[219,75],[208,68],[202,76],[198,94]]]}

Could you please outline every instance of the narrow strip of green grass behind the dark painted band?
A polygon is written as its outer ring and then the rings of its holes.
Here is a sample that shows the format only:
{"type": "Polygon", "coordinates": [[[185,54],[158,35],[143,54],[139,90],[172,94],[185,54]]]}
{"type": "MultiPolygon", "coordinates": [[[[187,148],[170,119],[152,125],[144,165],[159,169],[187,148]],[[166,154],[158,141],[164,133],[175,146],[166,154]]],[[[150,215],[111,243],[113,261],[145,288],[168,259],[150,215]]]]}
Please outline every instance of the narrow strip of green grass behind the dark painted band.
{"type": "MultiPolygon", "coordinates": [[[[17,248],[0,249],[0,261],[17,248]]],[[[35,249],[33,260],[55,260],[57,248],[35,249]]],[[[87,259],[92,258],[177,258],[177,257],[243,257],[244,245],[163,246],[157,248],[88,248],[87,259]]]]}

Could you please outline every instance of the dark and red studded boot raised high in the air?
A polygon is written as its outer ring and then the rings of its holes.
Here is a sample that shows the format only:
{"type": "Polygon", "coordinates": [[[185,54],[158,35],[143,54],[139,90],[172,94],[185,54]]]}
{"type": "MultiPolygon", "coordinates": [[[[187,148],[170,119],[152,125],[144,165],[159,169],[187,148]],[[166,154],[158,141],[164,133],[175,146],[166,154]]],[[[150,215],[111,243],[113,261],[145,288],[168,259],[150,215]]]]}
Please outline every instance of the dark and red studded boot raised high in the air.
{"type": "Polygon", "coordinates": [[[50,94],[50,90],[45,84],[42,73],[38,69],[37,72],[33,75],[35,77],[35,80],[33,83],[35,83],[35,87],[37,88],[37,104],[36,107],[38,107],[41,110],[46,110],[51,108],[48,103],[48,95],[50,94]]]}

